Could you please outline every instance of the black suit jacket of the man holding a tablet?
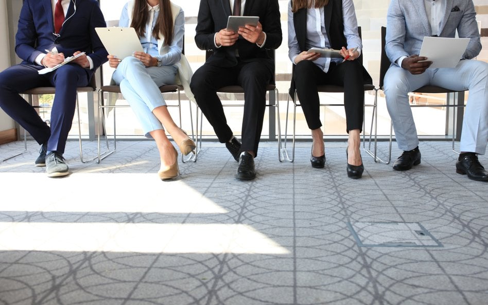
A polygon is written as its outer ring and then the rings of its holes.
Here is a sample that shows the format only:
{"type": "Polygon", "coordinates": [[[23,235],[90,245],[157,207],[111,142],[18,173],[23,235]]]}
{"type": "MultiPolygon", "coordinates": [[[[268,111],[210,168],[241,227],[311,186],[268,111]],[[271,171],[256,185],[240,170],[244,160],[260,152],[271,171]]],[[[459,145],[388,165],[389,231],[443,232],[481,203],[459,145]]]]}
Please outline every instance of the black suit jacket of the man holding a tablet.
{"type": "Polygon", "coordinates": [[[255,43],[250,43],[242,37],[239,37],[233,46],[216,48],[214,35],[227,26],[229,15],[232,15],[229,0],[200,1],[195,42],[202,50],[214,51],[207,62],[222,67],[235,66],[237,64],[235,49],[237,48],[239,58],[242,61],[268,59],[266,63],[273,65],[273,60],[270,59],[266,49],[278,48],[283,40],[278,1],[246,0],[243,15],[259,16],[259,22],[266,33],[266,42],[263,48],[259,48],[255,43]]]}

